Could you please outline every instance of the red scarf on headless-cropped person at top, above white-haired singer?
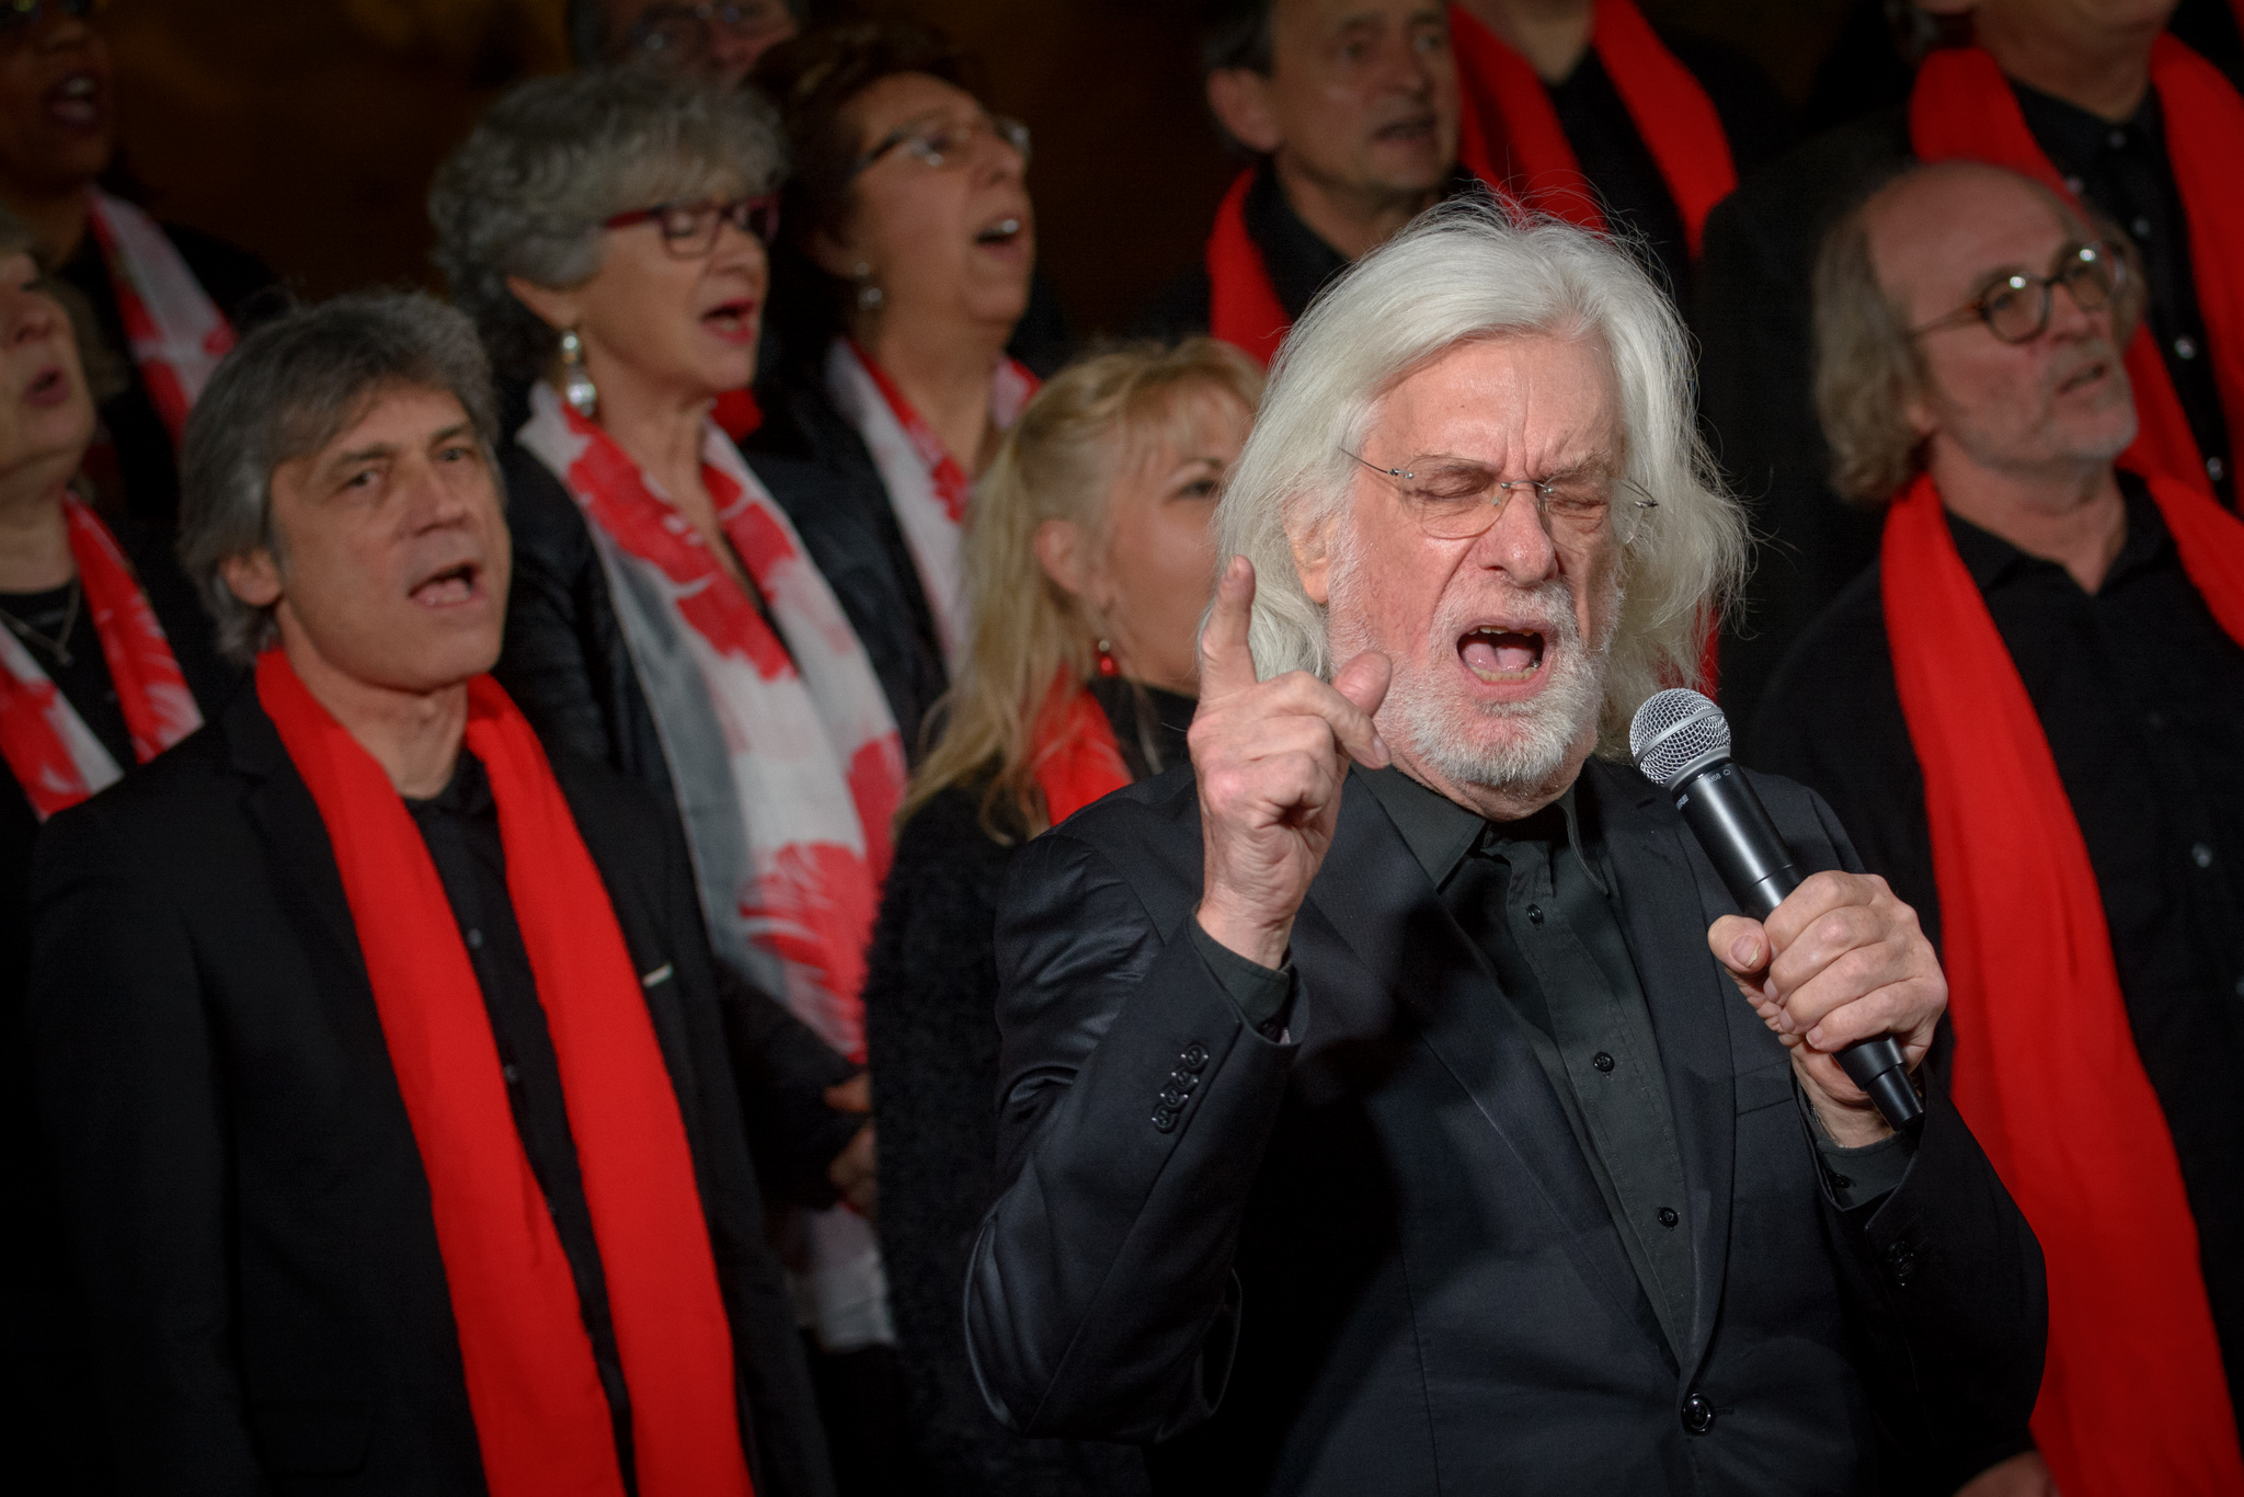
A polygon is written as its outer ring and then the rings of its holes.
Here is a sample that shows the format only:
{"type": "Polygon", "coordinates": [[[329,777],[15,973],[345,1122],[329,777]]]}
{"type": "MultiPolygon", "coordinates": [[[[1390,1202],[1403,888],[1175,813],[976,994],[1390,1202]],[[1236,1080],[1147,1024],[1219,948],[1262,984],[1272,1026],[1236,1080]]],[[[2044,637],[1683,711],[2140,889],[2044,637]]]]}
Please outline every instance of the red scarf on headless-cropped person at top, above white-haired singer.
{"type": "MultiPolygon", "coordinates": [[[[1528,206],[1604,229],[1598,193],[1573,159],[1535,65],[1463,7],[1450,7],[1450,38],[1461,83],[1459,157],[1483,177],[1508,182],[1528,206]]],[[[1631,0],[1598,0],[1589,45],[1652,150],[1696,256],[1705,215],[1737,189],[1730,137],[1714,103],[1631,0]]]]}

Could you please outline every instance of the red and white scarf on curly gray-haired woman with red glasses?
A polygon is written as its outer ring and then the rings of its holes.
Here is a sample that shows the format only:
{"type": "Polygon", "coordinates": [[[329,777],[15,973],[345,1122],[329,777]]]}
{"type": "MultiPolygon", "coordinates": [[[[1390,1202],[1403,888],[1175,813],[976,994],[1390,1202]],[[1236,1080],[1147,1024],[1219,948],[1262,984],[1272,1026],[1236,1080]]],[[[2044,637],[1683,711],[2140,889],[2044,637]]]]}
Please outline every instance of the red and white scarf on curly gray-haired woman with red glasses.
{"type": "MultiPolygon", "coordinates": [[[[718,956],[864,1059],[864,956],[904,741],[842,604],[785,512],[711,422],[702,483],[770,622],[693,523],[599,426],[530,393],[521,444],[568,487],[669,761],[718,956]],[[776,633],[774,633],[776,626],[776,633]]],[[[871,1225],[846,1205],[803,1219],[797,1293],[828,1351],[893,1342],[871,1225]]]]}

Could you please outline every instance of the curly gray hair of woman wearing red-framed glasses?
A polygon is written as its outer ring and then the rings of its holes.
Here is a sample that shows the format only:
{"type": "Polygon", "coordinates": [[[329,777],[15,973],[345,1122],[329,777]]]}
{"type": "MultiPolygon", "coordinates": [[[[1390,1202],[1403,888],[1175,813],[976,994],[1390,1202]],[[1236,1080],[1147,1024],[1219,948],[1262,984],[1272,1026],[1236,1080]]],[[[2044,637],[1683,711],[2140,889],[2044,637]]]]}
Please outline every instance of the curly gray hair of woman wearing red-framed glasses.
{"type": "Polygon", "coordinates": [[[532,79],[494,103],[429,189],[435,263],[476,319],[500,379],[534,379],[559,332],[507,276],[570,287],[599,274],[617,213],[711,193],[763,193],[783,150],[772,108],[646,65],[532,79]]]}

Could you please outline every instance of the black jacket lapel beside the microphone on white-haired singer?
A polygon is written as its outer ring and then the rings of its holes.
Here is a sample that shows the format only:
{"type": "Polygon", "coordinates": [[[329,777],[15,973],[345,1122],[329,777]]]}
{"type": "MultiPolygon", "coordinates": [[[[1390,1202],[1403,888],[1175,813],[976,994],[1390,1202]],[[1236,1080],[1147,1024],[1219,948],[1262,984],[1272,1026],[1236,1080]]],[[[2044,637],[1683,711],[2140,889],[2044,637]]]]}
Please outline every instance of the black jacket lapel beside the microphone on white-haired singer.
{"type": "Polygon", "coordinates": [[[1737,904],[1692,857],[1683,821],[1640,774],[1591,761],[1604,848],[1618,882],[1622,929],[1652,1008],[1667,1104],[1674,1109],[1690,1187],[1694,1311],[1683,1376],[1696,1374],[1721,1308],[1730,1255],[1730,1181],[1737,1163],[1737,1064],[1730,1008],[1744,1003],[1714,965],[1705,929],[1737,904]]]}

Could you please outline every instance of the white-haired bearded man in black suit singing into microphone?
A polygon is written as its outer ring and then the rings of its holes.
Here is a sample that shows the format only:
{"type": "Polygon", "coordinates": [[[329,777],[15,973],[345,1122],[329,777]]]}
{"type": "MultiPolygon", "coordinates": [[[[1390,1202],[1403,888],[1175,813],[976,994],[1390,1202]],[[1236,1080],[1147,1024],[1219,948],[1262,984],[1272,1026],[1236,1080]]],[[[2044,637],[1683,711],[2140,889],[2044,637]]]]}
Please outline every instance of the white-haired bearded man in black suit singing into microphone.
{"type": "Polygon", "coordinates": [[[2026,1445],[2040,1259],[1923,1057],[1946,983],[1809,792],[1735,913],[1613,754],[1744,527],[1611,242],[1441,209],[1277,359],[1192,768],[999,913],[992,1412],[1158,1490],[1950,1493],[2026,1445]],[[1735,981],[1735,988],[1732,988],[1735,981]],[[1744,994],[1744,1001],[1741,997],[1744,994]]]}

